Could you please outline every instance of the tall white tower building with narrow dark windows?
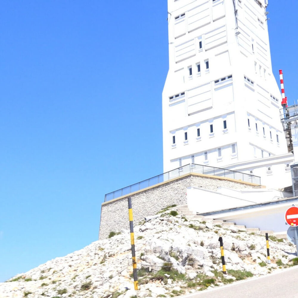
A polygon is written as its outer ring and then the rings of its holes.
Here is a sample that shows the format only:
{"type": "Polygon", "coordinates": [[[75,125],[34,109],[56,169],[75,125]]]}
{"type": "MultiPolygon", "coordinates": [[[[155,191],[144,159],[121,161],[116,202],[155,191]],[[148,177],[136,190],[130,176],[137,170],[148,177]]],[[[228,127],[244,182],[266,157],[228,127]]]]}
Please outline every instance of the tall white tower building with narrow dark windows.
{"type": "Polygon", "coordinates": [[[164,172],[288,153],[266,0],[168,0],[164,172]]]}

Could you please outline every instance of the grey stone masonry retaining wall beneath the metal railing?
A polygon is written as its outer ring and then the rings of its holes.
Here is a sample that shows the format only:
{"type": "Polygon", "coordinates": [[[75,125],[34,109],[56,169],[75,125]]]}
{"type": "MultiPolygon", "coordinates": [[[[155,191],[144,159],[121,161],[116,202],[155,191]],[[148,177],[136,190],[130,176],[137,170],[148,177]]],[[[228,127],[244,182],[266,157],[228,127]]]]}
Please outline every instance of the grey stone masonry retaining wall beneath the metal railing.
{"type": "Polygon", "coordinates": [[[188,175],[134,195],[127,195],[102,205],[99,239],[107,238],[112,231],[121,232],[122,229],[129,229],[128,196],[132,201],[134,224],[138,224],[146,216],[155,215],[167,206],[186,204],[188,186],[203,187],[208,190],[216,190],[220,186],[234,189],[253,187],[236,181],[188,175]]]}

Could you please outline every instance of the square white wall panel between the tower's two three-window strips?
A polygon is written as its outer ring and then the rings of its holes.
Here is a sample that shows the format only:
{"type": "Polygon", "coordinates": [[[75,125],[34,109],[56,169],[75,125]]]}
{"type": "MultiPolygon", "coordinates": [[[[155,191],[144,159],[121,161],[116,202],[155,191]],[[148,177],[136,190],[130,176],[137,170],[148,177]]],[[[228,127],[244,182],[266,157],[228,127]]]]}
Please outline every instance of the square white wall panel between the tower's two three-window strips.
{"type": "Polygon", "coordinates": [[[207,83],[202,86],[187,91],[188,114],[205,110],[212,107],[211,84],[207,83]]]}

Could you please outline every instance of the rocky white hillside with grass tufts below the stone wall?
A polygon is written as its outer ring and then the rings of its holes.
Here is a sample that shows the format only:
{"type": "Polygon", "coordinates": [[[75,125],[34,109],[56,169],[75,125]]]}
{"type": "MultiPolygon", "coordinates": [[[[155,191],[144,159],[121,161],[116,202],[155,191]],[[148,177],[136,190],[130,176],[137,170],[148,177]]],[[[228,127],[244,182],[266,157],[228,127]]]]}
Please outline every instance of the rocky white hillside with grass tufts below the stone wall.
{"type": "Polygon", "coordinates": [[[264,236],[169,212],[134,227],[138,291],[131,278],[130,234],[123,230],[0,283],[0,297],[174,297],[297,264],[295,247],[287,240],[271,236],[269,265],[264,236]]]}

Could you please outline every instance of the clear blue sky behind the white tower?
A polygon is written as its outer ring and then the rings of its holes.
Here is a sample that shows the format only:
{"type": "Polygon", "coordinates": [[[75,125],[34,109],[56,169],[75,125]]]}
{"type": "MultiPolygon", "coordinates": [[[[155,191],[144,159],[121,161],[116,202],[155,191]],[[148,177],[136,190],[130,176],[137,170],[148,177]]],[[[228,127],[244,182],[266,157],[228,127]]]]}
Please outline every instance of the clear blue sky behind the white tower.
{"type": "MultiPolygon", "coordinates": [[[[269,0],[290,104],[297,8],[269,0]]],[[[104,194],[162,173],[166,19],[166,0],[1,1],[0,281],[97,240],[104,194]]]]}

